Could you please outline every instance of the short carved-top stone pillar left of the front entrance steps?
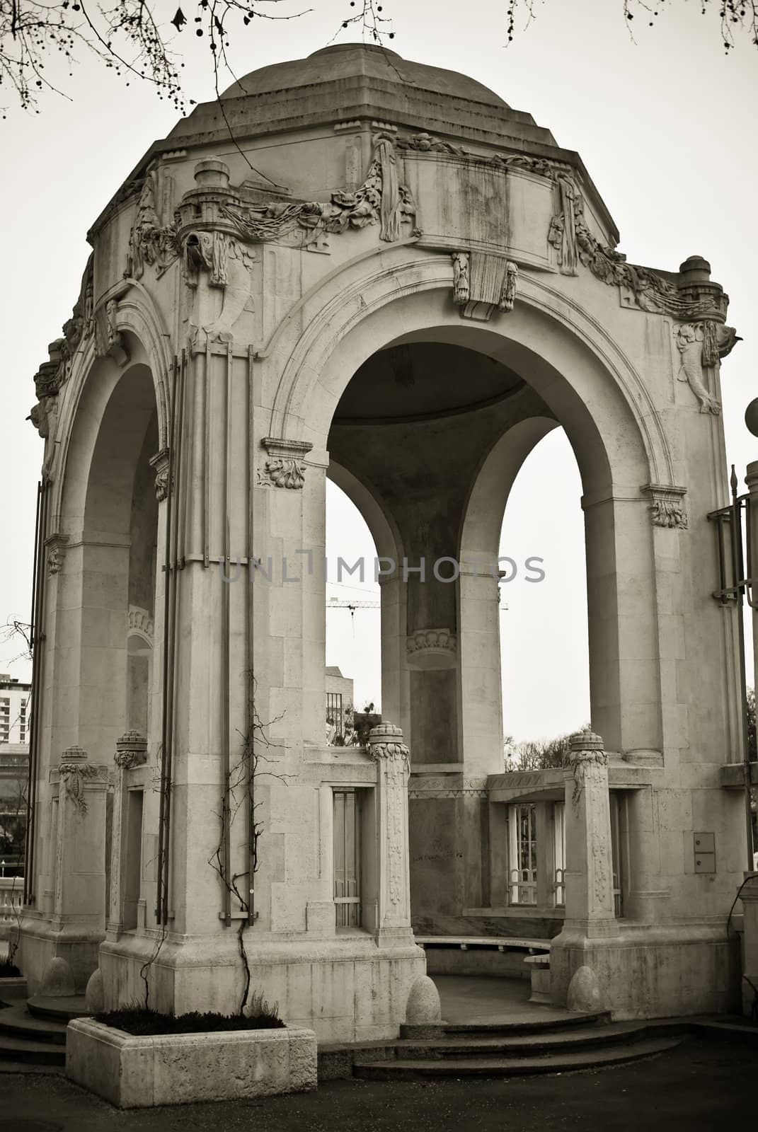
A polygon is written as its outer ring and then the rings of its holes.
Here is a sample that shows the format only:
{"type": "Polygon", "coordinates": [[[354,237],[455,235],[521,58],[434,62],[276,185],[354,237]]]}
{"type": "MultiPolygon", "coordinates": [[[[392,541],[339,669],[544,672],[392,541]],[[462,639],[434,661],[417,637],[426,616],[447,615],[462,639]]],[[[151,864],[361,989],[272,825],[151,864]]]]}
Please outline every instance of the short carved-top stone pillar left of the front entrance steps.
{"type": "Polygon", "coordinates": [[[408,747],[393,723],[368,735],[376,763],[376,837],[378,843],[377,942],[411,942],[408,855],[408,747]]]}

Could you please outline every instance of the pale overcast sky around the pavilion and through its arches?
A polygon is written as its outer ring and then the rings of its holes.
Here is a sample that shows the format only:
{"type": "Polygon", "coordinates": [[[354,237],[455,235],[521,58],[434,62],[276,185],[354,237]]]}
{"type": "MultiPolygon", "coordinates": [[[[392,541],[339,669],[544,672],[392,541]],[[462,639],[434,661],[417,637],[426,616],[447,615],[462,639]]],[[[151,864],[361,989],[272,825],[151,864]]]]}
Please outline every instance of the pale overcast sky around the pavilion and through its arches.
{"type": "MultiPolygon", "coordinates": [[[[173,6],[159,0],[169,17],[173,6]]],[[[298,11],[305,3],[287,0],[283,7],[298,11]]],[[[385,0],[383,7],[393,17],[393,50],[471,75],[581,154],[630,260],[668,271],[695,254],[710,260],[714,277],[731,295],[729,321],[744,338],[722,369],[727,451],[743,474],[744,464],[758,458],[758,440],[742,420],[758,372],[752,329],[758,49],[739,37],[726,58],[717,5],[701,17],[697,0],[672,0],[654,28],[640,9],[632,23],[637,43],[630,40],[622,0],[545,0],[535,5],[531,26],[508,48],[505,0],[385,0]]],[[[325,46],[344,14],[355,10],[348,0],[316,0],[314,8],[287,23],[254,20],[244,28],[240,22],[230,52],[237,72],[325,46]]],[[[358,37],[354,28],[339,36],[358,37]]],[[[186,52],[189,95],[213,97],[204,41],[190,26],[177,44],[186,52]]],[[[6,132],[1,621],[28,619],[42,457],[42,441],[24,420],[35,401],[33,375],[77,298],[87,228],[176,120],[176,111],[150,87],[126,88],[92,61],[71,79],[65,72],[54,77],[73,101],[48,95],[41,113],[31,115],[7,93],[1,100],[9,108],[0,123],[6,132]]],[[[230,82],[224,78],[222,87],[230,82]]],[[[501,612],[504,726],[517,738],[555,735],[588,718],[579,496],[565,438],[548,436],[517,481],[504,531],[504,554],[539,555],[547,572],[542,585],[503,588],[509,607],[501,612]]],[[[363,547],[372,555],[350,505],[337,489],[330,500],[330,554],[363,547]]],[[[360,598],[355,590],[329,592],[360,598]]],[[[357,701],[378,701],[378,614],[358,611],[351,621],[349,612],[334,611],[327,626],[329,662],[356,679],[357,701]]],[[[28,666],[15,660],[18,652],[17,644],[0,643],[0,670],[24,678],[28,666]]]]}

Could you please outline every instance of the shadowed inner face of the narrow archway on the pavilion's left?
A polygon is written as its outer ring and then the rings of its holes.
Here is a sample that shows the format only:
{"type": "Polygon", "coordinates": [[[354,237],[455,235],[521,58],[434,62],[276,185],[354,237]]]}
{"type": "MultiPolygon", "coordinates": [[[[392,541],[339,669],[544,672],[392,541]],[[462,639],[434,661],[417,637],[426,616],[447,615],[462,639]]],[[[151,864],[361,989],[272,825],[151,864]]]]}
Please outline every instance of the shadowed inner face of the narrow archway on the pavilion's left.
{"type": "Polygon", "coordinates": [[[125,730],[146,732],[150,719],[152,648],[135,648],[137,637],[129,643],[129,611],[142,611],[144,628],[155,610],[157,501],[150,460],[159,451],[160,418],[152,370],[136,360],[136,340],[128,344],[124,368],[97,359],[79,391],[59,484],[66,552],[56,634],[68,648],[53,659],[60,674],[54,746],[76,743],[101,761],[125,730]]]}

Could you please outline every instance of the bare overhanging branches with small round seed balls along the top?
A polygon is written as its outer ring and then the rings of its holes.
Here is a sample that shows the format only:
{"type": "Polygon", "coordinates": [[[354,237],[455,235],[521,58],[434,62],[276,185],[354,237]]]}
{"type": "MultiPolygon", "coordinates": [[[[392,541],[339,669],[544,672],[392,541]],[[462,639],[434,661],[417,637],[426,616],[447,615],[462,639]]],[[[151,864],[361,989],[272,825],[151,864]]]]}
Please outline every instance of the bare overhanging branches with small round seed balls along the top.
{"type": "MultiPolygon", "coordinates": [[[[184,113],[193,100],[184,94],[185,65],[177,52],[180,34],[194,31],[207,44],[218,95],[221,74],[229,72],[236,78],[227,58],[232,37],[253,31],[262,19],[296,19],[314,10],[312,7],[289,12],[275,10],[279,5],[297,0],[185,2],[187,14],[181,5],[174,7],[177,0],[104,0],[100,5],[90,0],[0,0],[0,92],[5,87],[25,110],[39,112],[40,93],[62,93],[54,85],[51,59],[62,57],[70,76],[74,63],[90,52],[103,67],[122,76],[127,85],[136,80],[151,83],[160,98],[184,113]]],[[[551,2],[557,5],[560,0],[551,2]]],[[[634,19],[653,25],[667,6],[685,0],[614,2],[631,32],[634,19]]],[[[713,16],[727,53],[735,44],[735,35],[742,32],[758,46],[758,0],[699,0],[691,8],[713,16]]],[[[437,15],[444,19],[444,6],[437,15]]],[[[510,43],[525,26],[521,17],[528,26],[535,16],[535,0],[504,0],[506,41],[510,43]]],[[[589,37],[591,17],[587,19],[589,37]]],[[[372,43],[394,37],[391,16],[384,15],[378,0],[344,0],[343,19],[334,28],[335,35],[350,26],[372,43]]]]}

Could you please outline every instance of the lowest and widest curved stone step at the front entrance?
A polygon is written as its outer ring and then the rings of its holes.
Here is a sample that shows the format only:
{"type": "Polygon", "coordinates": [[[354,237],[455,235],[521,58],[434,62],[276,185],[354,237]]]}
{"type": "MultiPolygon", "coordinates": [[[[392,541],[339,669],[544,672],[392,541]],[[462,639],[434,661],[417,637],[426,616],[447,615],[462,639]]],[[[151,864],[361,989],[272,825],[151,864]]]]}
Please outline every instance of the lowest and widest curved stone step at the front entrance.
{"type": "Polygon", "coordinates": [[[601,1069],[651,1057],[675,1048],[683,1038],[648,1038],[612,1049],[581,1049],[527,1057],[467,1057],[356,1062],[354,1077],[367,1081],[402,1081],[444,1077],[523,1077],[534,1073],[567,1073],[601,1069]]]}

